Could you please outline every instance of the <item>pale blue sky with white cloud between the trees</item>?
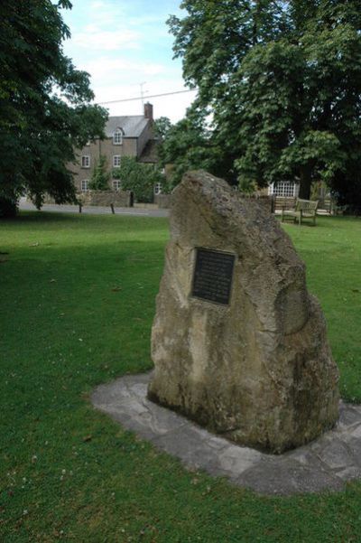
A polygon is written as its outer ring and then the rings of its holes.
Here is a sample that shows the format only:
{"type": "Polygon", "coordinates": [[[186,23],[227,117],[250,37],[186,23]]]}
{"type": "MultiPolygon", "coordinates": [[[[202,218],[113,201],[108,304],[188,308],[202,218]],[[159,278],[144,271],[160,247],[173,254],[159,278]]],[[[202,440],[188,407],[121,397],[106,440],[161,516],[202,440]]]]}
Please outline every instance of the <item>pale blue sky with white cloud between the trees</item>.
{"type": "MultiPolygon", "coordinates": [[[[186,89],[181,61],[172,60],[173,37],[166,20],[181,14],[179,0],[73,0],[62,12],[71,39],[64,52],[91,76],[97,102],[186,89]]],[[[154,117],[184,116],[195,93],[150,98],[154,117]]],[[[107,105],[110,115],[137,115],[142,102],[107,105]]]]}

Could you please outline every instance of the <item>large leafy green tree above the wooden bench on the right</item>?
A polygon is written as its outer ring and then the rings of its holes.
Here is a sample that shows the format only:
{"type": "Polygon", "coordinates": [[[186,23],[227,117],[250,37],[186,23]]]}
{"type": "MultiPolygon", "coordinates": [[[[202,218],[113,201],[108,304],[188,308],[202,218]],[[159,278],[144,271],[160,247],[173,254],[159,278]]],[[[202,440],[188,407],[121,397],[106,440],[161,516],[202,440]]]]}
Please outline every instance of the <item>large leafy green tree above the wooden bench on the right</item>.
{"type": "Polygon", "coordinates": [[[184,0],[174,51],[213,113],[227,171],[260,186],[325,180],[361,204],[361,12],[356,0],[184,0]],[[232,160],[236,154],[236,161],[232,160]],[[356,177],[355,177],[356,176],[356,177]]]}

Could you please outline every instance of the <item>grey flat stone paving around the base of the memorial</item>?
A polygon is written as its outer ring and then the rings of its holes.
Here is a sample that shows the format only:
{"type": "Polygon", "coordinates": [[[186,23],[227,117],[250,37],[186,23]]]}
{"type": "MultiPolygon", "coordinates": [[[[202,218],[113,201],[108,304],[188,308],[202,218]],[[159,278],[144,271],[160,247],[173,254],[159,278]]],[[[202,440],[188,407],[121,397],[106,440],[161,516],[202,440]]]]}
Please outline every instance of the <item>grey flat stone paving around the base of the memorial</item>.
{"type": "Polygon", "coordinates": [[[149,401],[150,375],[125,376],[97,387],[93,405],[190,468],[268,495],[339,491],[345,482],[361,478],[361,406],[340,403],[338,426],[309,445],[279,456],[263,454],[149,401]]]}

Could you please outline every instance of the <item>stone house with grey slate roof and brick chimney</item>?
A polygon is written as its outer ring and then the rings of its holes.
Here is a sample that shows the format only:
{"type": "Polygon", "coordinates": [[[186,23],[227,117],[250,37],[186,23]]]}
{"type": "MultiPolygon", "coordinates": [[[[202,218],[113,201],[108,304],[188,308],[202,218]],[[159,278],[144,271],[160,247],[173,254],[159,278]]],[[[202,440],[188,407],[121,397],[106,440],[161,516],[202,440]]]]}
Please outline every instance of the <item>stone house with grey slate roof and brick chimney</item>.
{"type": "MultiPolygon", "coordinates": [[[[77,151],[78,163],[71,165],[77,192],[88,192],[88,183],[101,155],[106,156],[109,173],[120,167],[123,156],[134,156],[140,162],[156,163],[153,135],[153,105],[144,104],[143,115],[109,117],[105,139],[95,139],[77,151]]],[[[109,190],[118,191],[118,179],[110,179],[109,190]]]]}

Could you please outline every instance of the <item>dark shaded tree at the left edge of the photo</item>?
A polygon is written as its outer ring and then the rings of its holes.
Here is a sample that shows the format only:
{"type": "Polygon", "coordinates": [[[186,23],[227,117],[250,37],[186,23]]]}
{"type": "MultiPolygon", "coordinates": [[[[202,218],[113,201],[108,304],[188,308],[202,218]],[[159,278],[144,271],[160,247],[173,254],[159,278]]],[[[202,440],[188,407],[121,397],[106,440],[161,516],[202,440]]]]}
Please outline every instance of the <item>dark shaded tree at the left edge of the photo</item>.
{"type": "Polygon", "coordinates": [[[107,114],[90,105],[88,74],[62,52],[69,29],[60,10],[70,7],[69,0],[1,2],[0,215],[6,206],[14,213],[24,191],[38,207],[46,192],[57,203],[74,201],[67,164],[76,147],[104,136],[107,114]]]}

